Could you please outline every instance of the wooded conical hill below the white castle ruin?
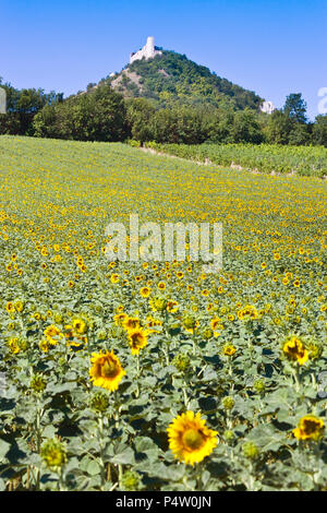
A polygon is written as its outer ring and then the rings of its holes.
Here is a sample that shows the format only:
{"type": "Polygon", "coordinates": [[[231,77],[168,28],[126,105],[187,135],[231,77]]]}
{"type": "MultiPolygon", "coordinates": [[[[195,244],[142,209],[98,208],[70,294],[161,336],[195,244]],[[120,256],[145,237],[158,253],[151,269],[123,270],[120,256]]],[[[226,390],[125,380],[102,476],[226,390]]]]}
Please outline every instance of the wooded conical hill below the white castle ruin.
{"type": "Polygon", "coordinates": [[[144,97],[160,107],[172,104],[258,109],[263,98],[217,76],[185,55],[162,50],[149,60],[137,60],[108,79],[125,97],[144,97]]]}

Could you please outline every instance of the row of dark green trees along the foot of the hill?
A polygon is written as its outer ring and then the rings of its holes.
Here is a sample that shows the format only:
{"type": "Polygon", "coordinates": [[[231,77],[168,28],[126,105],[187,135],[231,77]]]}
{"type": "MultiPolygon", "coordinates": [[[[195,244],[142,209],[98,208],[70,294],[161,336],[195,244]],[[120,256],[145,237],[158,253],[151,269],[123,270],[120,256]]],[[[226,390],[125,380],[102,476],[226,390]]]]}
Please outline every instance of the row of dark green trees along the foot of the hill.
{"type": "Polygon", "coordinates": [[[0,115],[2,134],[77,141],[327,146],[327,116],[308,122],[301,94],[290,95],[281,110],[267,116],[249,107],[234,110],[226,104],[220,108],[177,104],[160,108],[146,98],[126,99],[109,84],[65,100],[55,92],[47,95],[43,90],[4,87],[8,114],[0,115]]]}

